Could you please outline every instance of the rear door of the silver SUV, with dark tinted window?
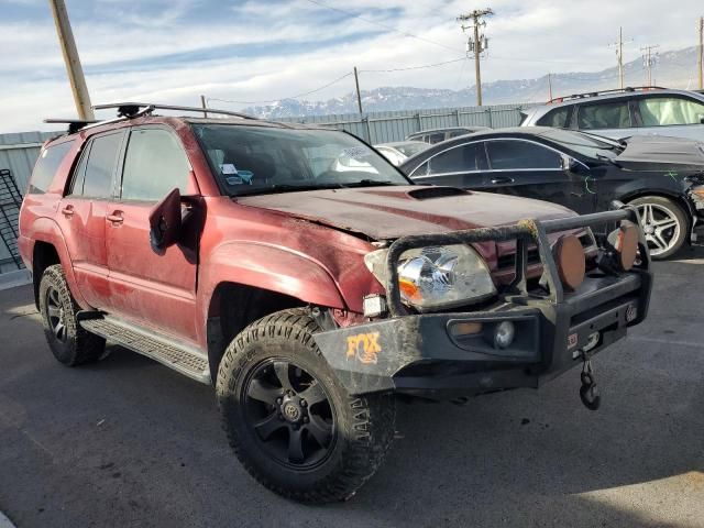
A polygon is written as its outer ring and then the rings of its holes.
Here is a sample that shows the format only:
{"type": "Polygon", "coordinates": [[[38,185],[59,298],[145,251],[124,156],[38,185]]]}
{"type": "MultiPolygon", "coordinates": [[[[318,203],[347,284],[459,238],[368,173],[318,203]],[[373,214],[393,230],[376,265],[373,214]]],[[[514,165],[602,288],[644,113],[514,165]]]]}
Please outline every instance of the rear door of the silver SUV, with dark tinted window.
{"type": "Polygon", "coordinates": [[[620,139],[639,133],[630,98],[580,103],[573,119],[578,130],[607,138],[620,139]]]}

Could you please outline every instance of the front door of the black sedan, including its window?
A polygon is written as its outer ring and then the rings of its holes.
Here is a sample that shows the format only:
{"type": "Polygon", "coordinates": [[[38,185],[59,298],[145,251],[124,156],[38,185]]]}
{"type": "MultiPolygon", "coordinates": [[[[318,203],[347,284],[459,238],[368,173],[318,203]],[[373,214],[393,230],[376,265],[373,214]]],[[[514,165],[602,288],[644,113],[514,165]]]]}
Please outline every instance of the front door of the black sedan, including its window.
{"type": "Polygon", "coordinates": [[[551,201],[579,213],[594,211],[595,183],[585,191],[587,176],[565,172],[559,151],[524,139],[492,139],[484,144],[486,190],[551,201]]]}

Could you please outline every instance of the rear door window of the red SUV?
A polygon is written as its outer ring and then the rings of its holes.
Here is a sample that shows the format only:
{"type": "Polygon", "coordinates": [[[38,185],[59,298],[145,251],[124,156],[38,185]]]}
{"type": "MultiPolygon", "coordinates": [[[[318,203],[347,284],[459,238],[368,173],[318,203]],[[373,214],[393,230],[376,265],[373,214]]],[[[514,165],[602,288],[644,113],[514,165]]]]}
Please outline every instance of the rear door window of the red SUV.
{"type": "Polygon", "coordinates": [[[123,132],[117,132],[95,138],[90,142],[85,170],[82,169],[82,160],[77,169],[74,195],[82,195],[87,198],[110,198],[112,196],[112,176],[123,135],[123,132]]]}

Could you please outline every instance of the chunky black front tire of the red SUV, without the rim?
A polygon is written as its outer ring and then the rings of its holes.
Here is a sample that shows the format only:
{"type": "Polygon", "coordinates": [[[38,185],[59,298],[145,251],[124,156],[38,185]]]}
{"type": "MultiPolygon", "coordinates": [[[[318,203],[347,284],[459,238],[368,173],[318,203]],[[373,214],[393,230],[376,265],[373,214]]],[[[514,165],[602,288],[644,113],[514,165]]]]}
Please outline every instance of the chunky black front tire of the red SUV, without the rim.
{"type": "Polygon", "coordinates": [[[248,472],[273,492],[305,503],[344,501],[374,474],[395,431],[391,394],[351,396],[336,380],[312,334],[319,331],[307,308],[279,311],[250,324],[234,338],[220,363],[217,397],[222,426],[248,472]],[[245,418],[248,376],[272,358],[290,360],[326,389],[336,415],[336,441],[322,465],[305,472],[282,465],[261,447],[245,418]]]}

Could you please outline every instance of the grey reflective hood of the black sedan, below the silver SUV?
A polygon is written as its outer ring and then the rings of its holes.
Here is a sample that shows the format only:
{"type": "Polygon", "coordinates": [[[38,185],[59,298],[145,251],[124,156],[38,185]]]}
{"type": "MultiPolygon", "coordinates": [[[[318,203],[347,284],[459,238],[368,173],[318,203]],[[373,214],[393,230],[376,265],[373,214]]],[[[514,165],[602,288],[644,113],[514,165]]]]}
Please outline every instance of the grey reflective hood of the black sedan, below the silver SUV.
{"type": "Polygon", "coordinates": [[[615,162],[631,170],[704,170],[704,143],[664,135],[634,135],[615,162]]]}

